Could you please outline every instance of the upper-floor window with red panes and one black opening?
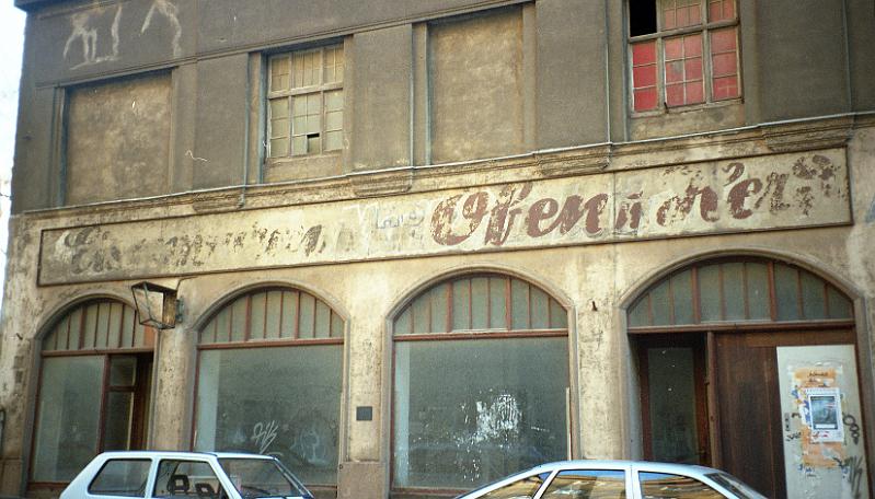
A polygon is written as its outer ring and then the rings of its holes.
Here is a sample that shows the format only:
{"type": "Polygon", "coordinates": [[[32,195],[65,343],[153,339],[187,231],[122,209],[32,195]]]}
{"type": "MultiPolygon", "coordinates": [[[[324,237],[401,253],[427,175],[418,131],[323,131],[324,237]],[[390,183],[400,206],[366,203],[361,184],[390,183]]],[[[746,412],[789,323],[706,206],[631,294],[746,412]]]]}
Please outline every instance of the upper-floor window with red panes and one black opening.
{"type": "Polygon", "coordinates": [[[636,113],[741,96],[735,0],[630,0],[636,113]]]}

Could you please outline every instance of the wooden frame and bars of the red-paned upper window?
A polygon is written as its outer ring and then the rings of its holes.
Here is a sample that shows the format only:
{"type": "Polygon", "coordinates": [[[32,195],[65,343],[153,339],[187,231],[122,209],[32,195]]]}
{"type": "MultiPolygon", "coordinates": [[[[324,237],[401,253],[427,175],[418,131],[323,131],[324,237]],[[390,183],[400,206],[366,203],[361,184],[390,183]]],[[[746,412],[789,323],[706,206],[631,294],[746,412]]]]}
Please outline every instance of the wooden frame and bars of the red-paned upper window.
{"type": "MultiPolygon", "coordinates": [[[[654,33],[648,33],[644,35],[636,35],[632,36],[631,34],[631,23],[632,23],[632,9],[631,9],[631,0],[626,2],[626,19],[625,19],[625,28],[626,28],[626,71],[629,74],[628,78],[628,95],[626,102],[629,106],[630,115],[633,117],[643,117],[643,116],[658,116],[671,113],[679,113],[690,109],[699,109],[699,108],[706,108],[706,107],[719,107],[730,105],[733,103],[744,102],[744,80],[741,76],[741,32],[740,32],[740,20],[741,16],[739,14],[739,1],[732,0],[734,2],[734,18],[730,20],[719,20],[711,22],[709,19],[710,15],[710,3],[711,0],[699,0],[700,11],[702,12],[702,21],[698,24],[682,26],[682,27],[673,27],[673,28],[664,28],[664,16],[663,12],[665,9],[663,8],[663,2],[666,0],[653,0],[654,8],[656,9],[656,31],[654,33]],[[711,48],[711,37],[714,32],[718,32],[724,28],[735,28],[736,35],[736,72],[735,76],[738,79],[738,95],[734,97],[726,97],[721,100],[714,100],[713,96],[713,88],[714,88],[714,71],[713,71],[713,54],[711,48]],[[665,40],[670,38],[683,37],[688,35],[701,34],[702,36],[702,84],[703,84],[703,102],[700,103],[690,103],[690,104],[680,104],[680,105],[668,105],[667,101],[667,93],[666,93],[666,61],[665,61],[665,40]],[[634,68],[636,67],[633,61],[633,47],[638,45],[643,42],[651,42],[654,40],[655,47],[655,65],[656,65],[656,96],[657,103],[654,108],[649,109],[635,109],[635,79],[634,79],[634,68]]],[[[683,60],[683,59],[681,59],[683,60]]],[[[686,80],[684,80],[686,81],[686,80]]]]}

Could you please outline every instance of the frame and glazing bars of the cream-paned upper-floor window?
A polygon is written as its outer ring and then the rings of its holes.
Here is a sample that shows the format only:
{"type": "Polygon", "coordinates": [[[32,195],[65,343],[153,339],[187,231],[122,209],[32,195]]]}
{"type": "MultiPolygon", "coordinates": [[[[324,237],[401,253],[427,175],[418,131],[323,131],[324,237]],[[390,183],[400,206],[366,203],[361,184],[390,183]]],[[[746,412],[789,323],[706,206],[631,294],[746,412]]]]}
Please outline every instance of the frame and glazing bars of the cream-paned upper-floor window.
{"type": "MultiPolygon", "coordinates": [[[[343,121],[346,120],[345,114],[347,113],[347,109],[346,109],[346,106],[345,106],[346,105],[346,93],[344,92],[344,83],[345,83],[344,79],[346,78],[346,70],[345,70],[346,50],[345,50],[345,45],[344,45],[343,40],[338,40],[336,43],[326,44],[326,45],[320,45],[320,46],[316,46],[316,47],[304,47],[304,48],[299,48],[299,49],[295,49],[295,50],[287,50],[287,51],[278,51],[278,53],[274,53],[274,54],[268,54],[265,57],[264,60],[265,60],[265,88],[264,88],[265,89],[264,90],[265,91],[265,94],[264,94],[264,105],[265,105],[265,113],[264,113],[264,115],[265,115],[265,121],[264,121],[265,123],[265,127],[264,127],[264,135],[265,135],[265,140],[264,140],[264,163],[265,163],[265,165],[269,166],[269,165],[279,164],[279,163],[301,161],[301,160],[306,160],[306,159],[310,159],[310,158],[337,156],[337,155],[339,155],[342,153],[342,151],[343,151],[343,140],[342,140],[342,143],[341,143],[341,146],[338,148],[336,148],[336,149],[327,149],[327,150],[325,149],[325,141],[326,141],[326,136],[327,136],[327,134],[330,131],[338,131],[338,132],[341,132],[342,139],[343,139],[344,134],[345,134],[345,128],[343,126],[343,121]],[[338,66],[339,66],[339,68],[342,68],[339,81],[326,82],[325,74],[326,74],[326,70],[329,68],[329,65],[326,65],[325,61],[326,61],[326,54],[329,51],[335,51],[335,53],[339,51],[339,54],[342,56],[341,63],[339,65],[335,63],[335,65],[332,66],[334,68],[337,68],[338,66]],[[318,83],[313,83],[313,84],[309,84],[309,85],[304,85],[304,86],[295,86],[295,82],[293,82],[293,65],[295,65],[296,56],[307,56],[307,55],[311,55],[311,54],[315,54],[315,53],[318,53],[319,57],[320,57],[319,82],[318,83]],[[275,90],[272,90],[272,84],[273,84],[273,79],[274,79],[274,61],[275,60],[280,60],[280,59],[285,59],[285,60],[288,61],[288,74],[287,74],[287,78],[289,79],[289,85],[288,85],[287,89],[276,90],[275,91],[275,90]],[[326,95],[329,93],[331,93],[331,92],[336,92],[336,91],[339,91],[342,93],[342,96],[341,96],[341,98],[342,98],[342,107],[339,109],[341,113],[342,113],[342,124],[341,124],[341,128],[339,129],[330,130],[327,128],[327,119],[326,119],[327,118],[327,113],[329,113],[326,95]],[[320,149],[316,152],[307,151],[307,152],[303,152],[303,153],[296,153],[295,152],[295,147],[293,147],[295,137],[301,137],[301,136],[304,137],[304,144],[308,146],[308,149],[309,149],[309,144],[308,144],[308,140],[307,139],[308,139],[308,137],[311,134],[308,134],[306,131],[303,134],[296,134],[295,126],[293,126],[293,121],[295,121],[293,102],[295,102],[295,98],[296,97],[300,97],[300,96],[307,96],[307,95],[319,95],[319,100],[320,100],[320,113],[319,113],[319,116],[320,116],[320,131],[319,131],[320,149]],[[273,106],[272,106],[272,104],[274,102],[277,102],[277,101],[280,101],[280,100],[285,100],[287,102],[287,107],[286,108],[287,108],[287,113],[288,114],[287,114],[287,116],[285,118],[278,118],[278,119],[287,119],[288,120],[288,125],[287,125],[286,129],[284,130],[287,135],[278,136],[278,137],[276,137],[276,139],[285,138],[288,141],[288,143],[287,143],[286,154],[276,155],[275,156],[275,155],[272,155],[273,154],[272,142],[275,140],[275,138],[273,136],[273,134],[274,134],[273,120],[274,119],[273,119],[273,111],[272,111],[273,106]]],[[[309,115],[304,115],[304,116],[309,116],[309,115]]]]}

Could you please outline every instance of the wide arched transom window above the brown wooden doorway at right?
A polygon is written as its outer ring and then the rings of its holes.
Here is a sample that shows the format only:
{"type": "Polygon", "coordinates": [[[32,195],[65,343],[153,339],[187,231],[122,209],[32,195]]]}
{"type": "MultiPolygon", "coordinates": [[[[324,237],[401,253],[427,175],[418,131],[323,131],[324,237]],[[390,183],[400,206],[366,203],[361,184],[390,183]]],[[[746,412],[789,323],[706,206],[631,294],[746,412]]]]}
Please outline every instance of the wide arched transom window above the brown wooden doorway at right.
{"type": "Polygon", "coordinates": [[[695,265],[651,287],[629,310],[631,329],[736,322],[850,321],[851,301],[811,272],[779,262],[695,265]]]}

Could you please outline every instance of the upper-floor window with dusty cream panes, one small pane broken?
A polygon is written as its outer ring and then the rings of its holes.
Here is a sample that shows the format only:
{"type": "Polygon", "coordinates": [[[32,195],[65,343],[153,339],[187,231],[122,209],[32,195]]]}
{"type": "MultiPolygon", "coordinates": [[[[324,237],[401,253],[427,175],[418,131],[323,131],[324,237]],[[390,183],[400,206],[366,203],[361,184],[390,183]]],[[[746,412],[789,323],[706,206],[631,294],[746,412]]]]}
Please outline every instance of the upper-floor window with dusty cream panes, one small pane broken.
{"type": "Polygon", "coordinates": [[[343,45],[277,54],[268,66],[268,158],[341,150],[343,45]]]}

